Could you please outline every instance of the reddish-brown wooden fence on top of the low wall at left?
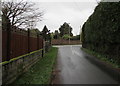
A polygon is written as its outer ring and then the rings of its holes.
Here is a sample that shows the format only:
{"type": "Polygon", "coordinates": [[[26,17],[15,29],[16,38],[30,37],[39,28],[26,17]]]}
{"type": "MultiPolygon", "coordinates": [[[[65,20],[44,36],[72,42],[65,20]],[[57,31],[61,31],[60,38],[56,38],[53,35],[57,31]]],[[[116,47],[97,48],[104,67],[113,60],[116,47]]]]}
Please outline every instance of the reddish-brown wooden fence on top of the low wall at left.
{"type": "Polygon", "coordinates": [[[21,29],[14,29],[10,34],[7,30],[2,31],[2,61],[42,48],[43,39],[39,35],[21,29]]]}

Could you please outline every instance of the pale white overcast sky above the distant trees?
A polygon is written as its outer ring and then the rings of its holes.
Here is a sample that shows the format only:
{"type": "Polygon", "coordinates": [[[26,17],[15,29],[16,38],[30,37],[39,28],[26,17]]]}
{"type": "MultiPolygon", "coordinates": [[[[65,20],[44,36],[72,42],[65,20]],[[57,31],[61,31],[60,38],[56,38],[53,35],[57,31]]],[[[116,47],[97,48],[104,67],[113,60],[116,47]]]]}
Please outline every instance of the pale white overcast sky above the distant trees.
{"type": "Polygon", "coordinates": [[[36,5],[44,11],[43,21],[37,24],[40,31],[46,25],[51,32],[54,32],[67,22],[73,28],[73,34],[77,35],[80,33],[80,26],[93,13],[97,3],[94,0],[93,2],[37,2],[36,5]]]}

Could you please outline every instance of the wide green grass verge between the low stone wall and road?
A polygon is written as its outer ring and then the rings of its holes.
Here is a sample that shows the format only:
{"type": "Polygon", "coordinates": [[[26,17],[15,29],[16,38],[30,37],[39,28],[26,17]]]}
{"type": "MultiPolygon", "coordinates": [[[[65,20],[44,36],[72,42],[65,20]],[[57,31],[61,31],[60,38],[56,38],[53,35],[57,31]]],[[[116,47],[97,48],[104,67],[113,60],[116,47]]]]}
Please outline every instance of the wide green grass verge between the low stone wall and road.
{"type": "Polygon", "coordinates": [[[35,65],[13,84],[49,84],[58,49],[52,47],[35,65]]]}

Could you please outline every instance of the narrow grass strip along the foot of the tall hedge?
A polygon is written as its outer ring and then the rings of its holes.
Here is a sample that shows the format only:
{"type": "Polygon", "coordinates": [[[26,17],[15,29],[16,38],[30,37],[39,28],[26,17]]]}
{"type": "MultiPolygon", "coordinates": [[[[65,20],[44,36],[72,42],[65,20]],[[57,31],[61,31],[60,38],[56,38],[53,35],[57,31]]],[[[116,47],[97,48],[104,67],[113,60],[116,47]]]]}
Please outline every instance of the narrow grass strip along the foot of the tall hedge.
{"type": "Polygon", "coordinates": [[[101,61],[104,61],[104,62],[106,62],[108,64],[111,64],[114,68],[120,68],[120,63],[119,62],[117,62],[117,61],[115,61],[113,59],[107,58],[106,55],[102,55],[100,53],[97,53],[95,51],[91,51],[91,50],[86,49],[86,48],[82,48],[82,50],[85,51],[88,54],[91,54],[91,55],[95,56],[96,58],[98,58],[101,61]]]}

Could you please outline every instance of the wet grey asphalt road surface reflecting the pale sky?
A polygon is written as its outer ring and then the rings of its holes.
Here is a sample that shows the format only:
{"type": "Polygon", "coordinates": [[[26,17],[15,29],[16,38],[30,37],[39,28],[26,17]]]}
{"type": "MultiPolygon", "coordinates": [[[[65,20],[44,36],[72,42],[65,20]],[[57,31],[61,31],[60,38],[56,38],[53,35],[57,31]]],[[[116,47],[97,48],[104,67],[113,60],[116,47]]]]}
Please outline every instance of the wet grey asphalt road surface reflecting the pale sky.
{"type": "Polygon", "coordinates": [[[81,45],[59,47],[54,84],[117,84],[111,76],[86,59],[81,45]]]}

